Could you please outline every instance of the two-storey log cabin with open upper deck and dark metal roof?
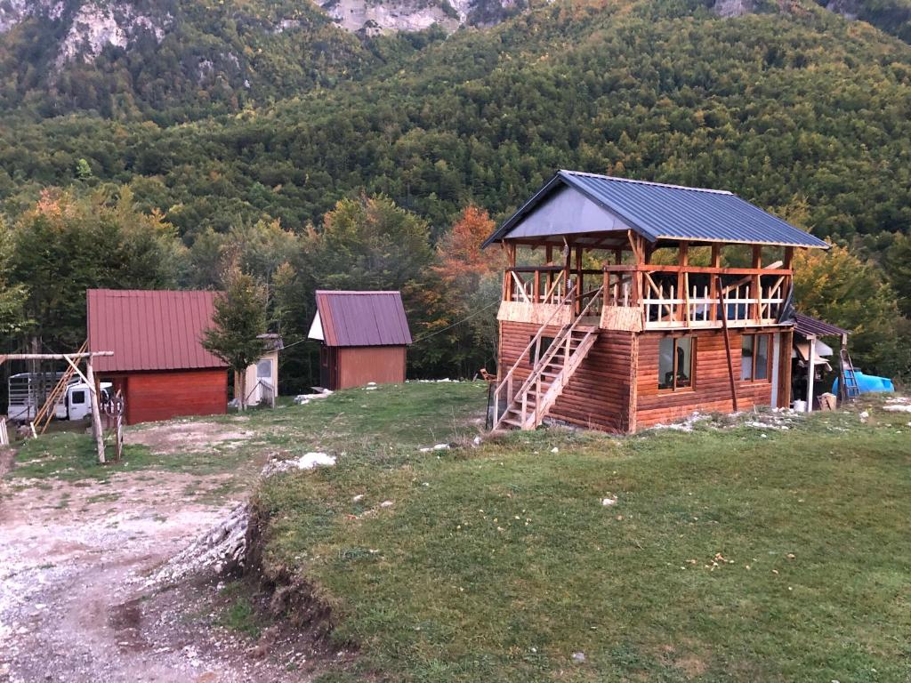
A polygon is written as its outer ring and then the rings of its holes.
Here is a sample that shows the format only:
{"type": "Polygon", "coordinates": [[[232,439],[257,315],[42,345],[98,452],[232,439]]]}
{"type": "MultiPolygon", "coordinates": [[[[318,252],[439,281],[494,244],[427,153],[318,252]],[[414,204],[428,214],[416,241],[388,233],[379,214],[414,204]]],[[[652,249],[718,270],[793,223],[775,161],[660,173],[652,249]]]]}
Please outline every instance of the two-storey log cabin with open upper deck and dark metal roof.
{"type": "Polygon", "coordinates": [[[561,170],[494,243],[496,427],[790,405],[793,253],[823,240],[730,192],[561,170]]]}

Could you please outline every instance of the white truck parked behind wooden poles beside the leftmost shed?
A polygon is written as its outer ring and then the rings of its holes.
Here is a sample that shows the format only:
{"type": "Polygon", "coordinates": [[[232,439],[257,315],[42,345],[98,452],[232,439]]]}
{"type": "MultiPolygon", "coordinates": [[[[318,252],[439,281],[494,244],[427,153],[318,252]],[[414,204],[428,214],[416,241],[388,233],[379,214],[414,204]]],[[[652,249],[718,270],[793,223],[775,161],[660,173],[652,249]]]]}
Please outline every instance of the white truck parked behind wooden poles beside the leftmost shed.
{"type": "MultiPolygon", "coordinates": [[[[33,372],[20,372],[11,375],[8,383],[9,406],[6,409],[7,418],[12,422],[28,423],[35,419],[41,406],[44,405],[46,394],[50,392],[63,372],[40,375],[33,372]],[[43,385],[43,386],[42,386],[43,385]]],[[[111,388],[110,382],[101,382],[101,397],[104,400],[107,391],[111,388]]],[[[82,420],[91,413],[92,404],[88,393],[88,384],[74,377],[67,384],[67,391],[54,406],[54,416],[57,420],[82,420]]]]}

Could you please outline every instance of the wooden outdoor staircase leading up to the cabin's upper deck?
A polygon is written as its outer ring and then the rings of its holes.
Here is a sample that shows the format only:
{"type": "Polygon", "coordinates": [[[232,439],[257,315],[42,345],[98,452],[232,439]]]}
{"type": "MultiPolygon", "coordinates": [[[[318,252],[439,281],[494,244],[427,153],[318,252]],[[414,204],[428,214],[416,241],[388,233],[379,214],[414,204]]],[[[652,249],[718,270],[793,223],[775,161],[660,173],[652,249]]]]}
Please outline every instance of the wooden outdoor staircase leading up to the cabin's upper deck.
{"type": "MultiPolygon", "coordinates": [[[[553,316],[541,325],[526,350],[519,355],[517,362],[496,386],[493,397],[494,429],[535,429],[548,416],[569,379],[578,370],[578,366],[585,360],[598,339],[598,326],[582,324],[582,320],[592,304],[599,299],[603,289],[602,287],[596,291],[586,307],[560,329],[543,355],[541,342],[553,316]],[[532,353],[534,356],[530,355],[532,353]],[[521,383],[517,391],[514,391],[516,370],[529,357],[537,358],[537,362],[527,379],[521,383]],[[506,409],[500,413],[500,403],[504,399],[507,403],[506,409]]],[[[568,291],[562,303],[570,306],[570,310],[575,310],[574,288],[568,291]]]]}

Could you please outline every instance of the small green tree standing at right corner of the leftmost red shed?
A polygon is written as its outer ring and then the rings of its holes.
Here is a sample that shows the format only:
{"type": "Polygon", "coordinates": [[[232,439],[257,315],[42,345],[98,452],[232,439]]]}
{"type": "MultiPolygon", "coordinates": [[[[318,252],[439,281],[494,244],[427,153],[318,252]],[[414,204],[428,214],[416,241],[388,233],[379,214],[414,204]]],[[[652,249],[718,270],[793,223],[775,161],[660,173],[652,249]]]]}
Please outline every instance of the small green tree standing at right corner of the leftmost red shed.
{"type": "Polygon", "coordinates": [[[228,363],[238,378],[237,399],[247,406],[247,368],[266,350],[259,335],[266,331],[266,295],[263,287],[244,273],[234,260],[226,268],[224,291],[215,299],[214,326],[205,332],[202,345],[228,363]]]}

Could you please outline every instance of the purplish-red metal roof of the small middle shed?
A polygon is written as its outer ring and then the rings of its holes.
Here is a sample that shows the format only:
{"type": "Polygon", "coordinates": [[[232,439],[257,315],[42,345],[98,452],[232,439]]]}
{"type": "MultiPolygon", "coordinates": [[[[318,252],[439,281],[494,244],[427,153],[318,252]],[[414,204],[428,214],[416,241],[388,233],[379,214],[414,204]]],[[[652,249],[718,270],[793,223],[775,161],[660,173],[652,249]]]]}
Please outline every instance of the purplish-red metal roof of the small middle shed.
{"type": "Polygon", "coordinates": [[[411,331],[398,291],[316,291],[326,346],[403,346],[411,331]]]}

